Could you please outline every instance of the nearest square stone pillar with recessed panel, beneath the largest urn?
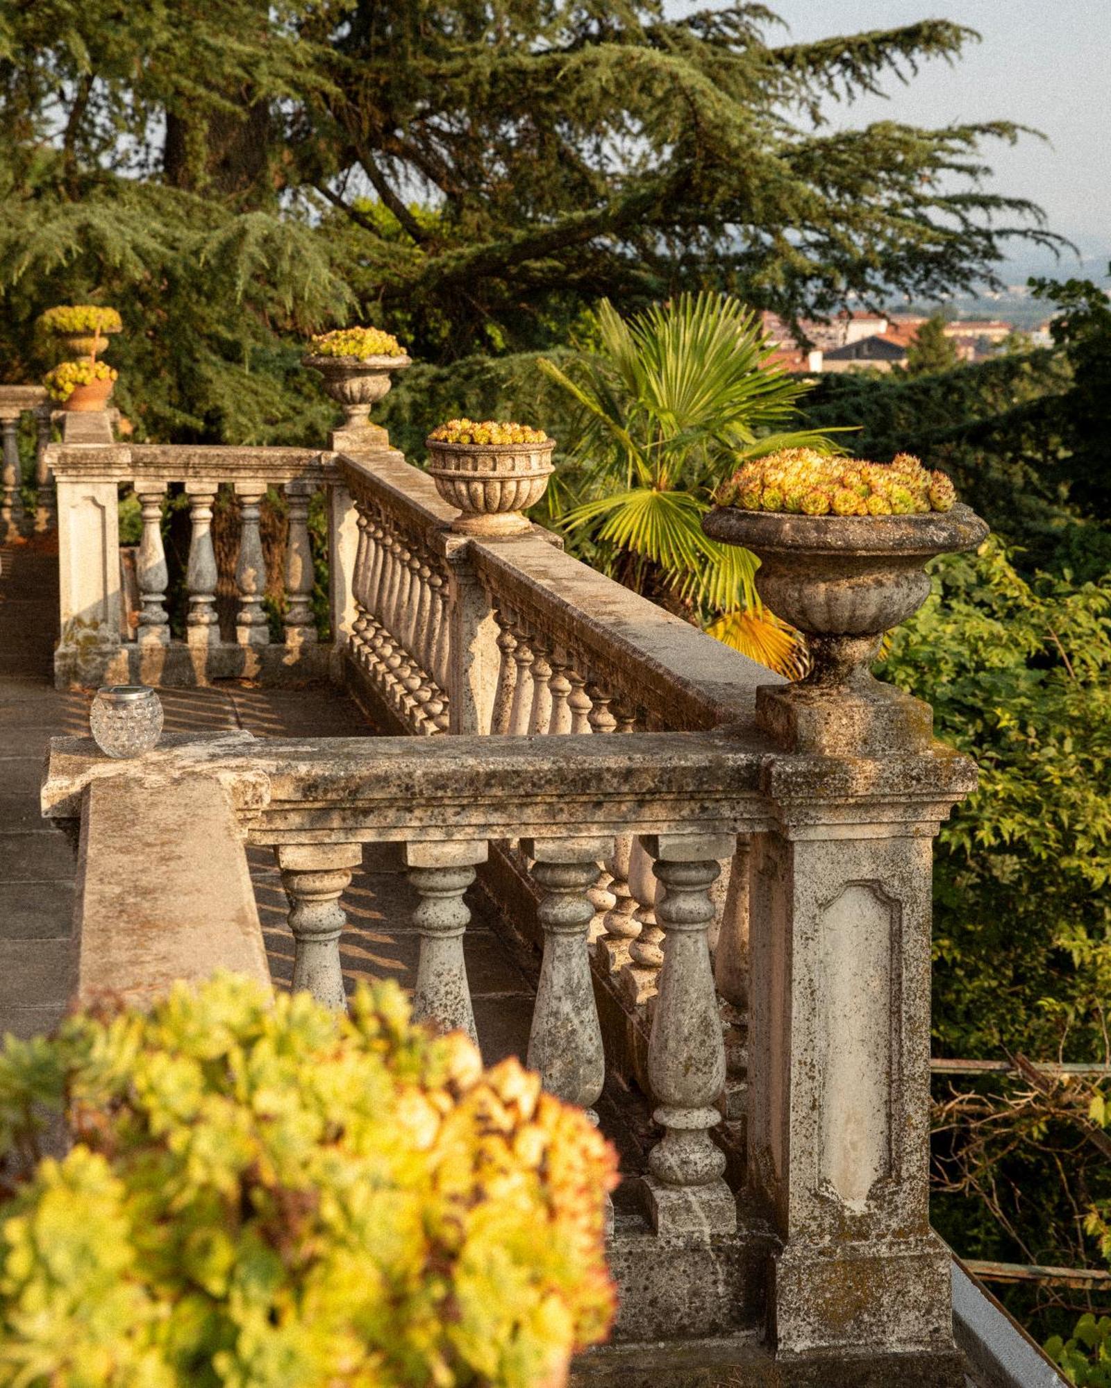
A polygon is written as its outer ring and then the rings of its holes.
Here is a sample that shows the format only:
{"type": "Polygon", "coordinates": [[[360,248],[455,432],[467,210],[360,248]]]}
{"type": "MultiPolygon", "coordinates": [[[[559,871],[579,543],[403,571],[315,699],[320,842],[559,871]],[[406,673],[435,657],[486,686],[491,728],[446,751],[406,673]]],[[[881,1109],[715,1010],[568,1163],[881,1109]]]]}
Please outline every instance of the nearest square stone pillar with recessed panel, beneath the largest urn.
{"type": "Polygon", "coordinates": [[[950,752],[785,761],[778,826],[753,840],[749,1180],[780,1242],[769,1338],[782,1357],[897,1353],[885,1382],[964,1381],[929,1228],[930,876],[972,784],[950,752]]]}

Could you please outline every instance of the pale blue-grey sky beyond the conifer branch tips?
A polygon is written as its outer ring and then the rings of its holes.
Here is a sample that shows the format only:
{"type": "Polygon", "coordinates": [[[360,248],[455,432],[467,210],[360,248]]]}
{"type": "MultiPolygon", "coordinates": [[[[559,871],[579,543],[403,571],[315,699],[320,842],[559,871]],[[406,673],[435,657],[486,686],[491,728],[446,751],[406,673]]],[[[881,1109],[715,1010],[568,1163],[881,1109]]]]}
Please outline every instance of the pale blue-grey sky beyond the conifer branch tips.
{"type": "MultiPolygon", "coordinates": [[[[867,29],[893,29],[946,18],[976,29],[954,67],[936,60],[903,86],[886,85],[890,100],[865,97],[829,107],[835,125],[897,119],[946,125],[1011,119],[1035,126],[1050,143],[1025,137],[1014,149],[986,146],[992,190],[1039,203],[1049,226],[1075,240],[1087,273],[1111,260],[1111,0],[767,0],[789,25],[782,42],[805,42],[867,29]],[[1092,264],[1094,261],[1094,264],[1092,264]]],[[[771,42],[780,42],[769,35],[771,42]]],[[[783,31],[778,31],[783,33],[783,31]]],[[[1076,273],[1074,257],[1022,250],[1026,273],[1076,273]]]]}

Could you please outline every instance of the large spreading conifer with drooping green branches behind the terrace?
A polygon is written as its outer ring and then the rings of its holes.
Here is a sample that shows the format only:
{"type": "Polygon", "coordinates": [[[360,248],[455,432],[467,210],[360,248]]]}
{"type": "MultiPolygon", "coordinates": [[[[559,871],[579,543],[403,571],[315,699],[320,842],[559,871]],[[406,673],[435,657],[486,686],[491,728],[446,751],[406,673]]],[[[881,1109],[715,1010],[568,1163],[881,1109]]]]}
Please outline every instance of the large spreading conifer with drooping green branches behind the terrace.
{"type": "Polygon", "coordinates": [[[661,0],[8,6],[6,375],[42,365],[43,308],[110,301],[140,437],[299,441],[326,412],[287,344],[336,322],[450,361],[546,348],[603,294],[715,283],[794,316],[1047,239],[982,186],[1014,125],[821,122],[971,31],[782,37],[762,6],[661,0]]]}

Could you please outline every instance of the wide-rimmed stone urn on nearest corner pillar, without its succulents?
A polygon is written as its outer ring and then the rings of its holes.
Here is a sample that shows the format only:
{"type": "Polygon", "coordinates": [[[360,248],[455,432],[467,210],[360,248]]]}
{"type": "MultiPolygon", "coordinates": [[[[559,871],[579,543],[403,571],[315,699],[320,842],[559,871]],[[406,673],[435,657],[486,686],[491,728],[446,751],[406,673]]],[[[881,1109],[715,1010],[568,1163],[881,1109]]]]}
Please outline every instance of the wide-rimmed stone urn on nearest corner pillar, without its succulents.
{"type": "Polygon", "coordinates": [[[719,507],[703,519],[714,540],[760,558],[755,589],[807,637],[810,673],[757,691],[757,716],[782,745],[829,755],[880,755],[922,745],[932,712],[871,670],[883,633],[930,590],[925,565],[975,550],[987,526],[965,505],[926,515],[808,516],[719,507]]]}

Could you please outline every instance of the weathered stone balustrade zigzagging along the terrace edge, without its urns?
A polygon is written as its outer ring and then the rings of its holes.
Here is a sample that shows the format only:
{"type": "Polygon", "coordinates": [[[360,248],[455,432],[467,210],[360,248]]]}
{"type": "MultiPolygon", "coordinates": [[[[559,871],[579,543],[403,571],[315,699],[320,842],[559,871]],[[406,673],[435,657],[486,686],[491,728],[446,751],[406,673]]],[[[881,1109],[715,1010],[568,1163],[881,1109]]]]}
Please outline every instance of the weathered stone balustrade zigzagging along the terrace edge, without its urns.
{"type": "Polygon", "coordinates": [[[658,1124],[637,1184],[646,1223],[618,1220],[611,1241],[617,1366],[622,1345],[718,1337],[714,1364],[722,1344],[737,1363],[775,1357],[775,1377],[765,1364],[739,1382],[958,1388],[950,1258],[928,1217],[930,841],[974,766],[928,737],[890,755],[789,748],[757,715],[757,688],[782,683],[768,670],[542,530],[454,532],[432,480],[379,437],[349,429],[332,443],[51,448],[58,669],[167,683],[175,645],[192,679],[272,679],[311,659],[293,515],[325,486],[326,665],[404,736],[167,738],[132,766],[56,740],[44,813],[87,820],[92,788],[111,777],[218,787],[239,841],[276,855],[294,984],[332,1006],[351,872],[365,845],[400,845],[418,897],[415,1008],[472,1035],[465,892],[481,873],[542,949],[529,1063],[586,1109],[617,1072],[658,1124]],[[132,650],[108,597],[125,480],[150,527],[147,634],[132,650]],[[196,498],[183,643],[151,634],[165,627],[154,532],[167,480],[196,498]],[[226,645],[207,540],[219,483],[239,491],[244,522],[226,645]],[[286,487],[292,516],[296,634],[278,652],[258,620],[267,484],[286,487]],[[86,582],[82,608],[86,566],[103,583],[86,582]],[[144,665],[146,651],[160,659],[144,665]]]}

